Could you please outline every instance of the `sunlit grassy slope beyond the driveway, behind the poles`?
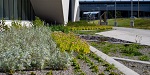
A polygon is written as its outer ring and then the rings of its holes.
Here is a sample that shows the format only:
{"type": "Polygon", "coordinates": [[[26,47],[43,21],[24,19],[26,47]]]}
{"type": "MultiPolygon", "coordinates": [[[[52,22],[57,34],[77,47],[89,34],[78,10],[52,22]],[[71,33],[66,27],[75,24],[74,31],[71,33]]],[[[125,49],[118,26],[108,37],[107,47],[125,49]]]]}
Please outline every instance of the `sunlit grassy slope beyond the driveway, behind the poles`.
{"type": "MultiPolygon", "coordinates": [[[[130,27],[130,20],[130,18],[117,18],[117,25],[118,27],[130,27]]],[[[108,25],[114,26],[114,21],[114,19],[108,19],[108,25]]],[[[98,20],[94,23],[98,23],[98,20]]],[[[135,18],[134,28],[150,29],[150,18],[135,18]]]]}

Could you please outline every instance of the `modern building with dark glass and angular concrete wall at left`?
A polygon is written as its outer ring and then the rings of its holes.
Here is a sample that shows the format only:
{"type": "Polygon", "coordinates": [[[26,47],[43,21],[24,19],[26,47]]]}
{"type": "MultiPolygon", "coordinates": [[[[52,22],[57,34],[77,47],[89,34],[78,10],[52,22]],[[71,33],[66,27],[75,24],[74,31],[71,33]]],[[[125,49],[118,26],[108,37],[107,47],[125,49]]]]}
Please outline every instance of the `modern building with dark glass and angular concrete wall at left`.
{"type": "Polygon", "coordinates": [[[79,0],[0,0],[0,19],[34,20],[67,24],[79,20],[79,0]]]}

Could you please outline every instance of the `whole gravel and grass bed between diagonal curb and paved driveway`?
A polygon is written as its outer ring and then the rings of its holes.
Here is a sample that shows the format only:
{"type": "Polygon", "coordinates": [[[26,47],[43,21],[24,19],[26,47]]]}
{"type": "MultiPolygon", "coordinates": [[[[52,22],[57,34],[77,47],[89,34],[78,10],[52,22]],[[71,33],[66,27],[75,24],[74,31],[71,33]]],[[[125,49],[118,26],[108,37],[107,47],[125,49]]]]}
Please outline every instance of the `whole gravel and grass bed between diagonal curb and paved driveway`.
{"type": "MultiPolygon", "coordinates": [[[[141,46],[129,41],[98,35],[78,35],[89,41],[89,44],[111,57],[119,57],[150,62],[150,47],[141,46]],[[96,40],[96,41],[95,41],[96,40]]],[[[141,75],[150,74],[149,64],[117,60],[141,75]]]]}

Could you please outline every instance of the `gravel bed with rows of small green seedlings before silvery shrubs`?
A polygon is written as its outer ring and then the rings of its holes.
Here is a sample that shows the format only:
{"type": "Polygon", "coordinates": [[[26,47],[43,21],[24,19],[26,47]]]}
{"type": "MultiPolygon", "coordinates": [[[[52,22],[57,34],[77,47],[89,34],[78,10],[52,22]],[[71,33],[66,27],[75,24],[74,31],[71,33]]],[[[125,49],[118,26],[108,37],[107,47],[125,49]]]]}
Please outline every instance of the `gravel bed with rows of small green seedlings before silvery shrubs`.
{"type": "MultiPolygon", "coordinates": [[[[94,53],[74,54],[71,66],[64,70],[15,71],[13,75],[124,75],[94,53]]],[[[9,74],[9,73],[8,73],[9,74]]],[[[1,72],[0,75],[7,75],[1,72]]]]}

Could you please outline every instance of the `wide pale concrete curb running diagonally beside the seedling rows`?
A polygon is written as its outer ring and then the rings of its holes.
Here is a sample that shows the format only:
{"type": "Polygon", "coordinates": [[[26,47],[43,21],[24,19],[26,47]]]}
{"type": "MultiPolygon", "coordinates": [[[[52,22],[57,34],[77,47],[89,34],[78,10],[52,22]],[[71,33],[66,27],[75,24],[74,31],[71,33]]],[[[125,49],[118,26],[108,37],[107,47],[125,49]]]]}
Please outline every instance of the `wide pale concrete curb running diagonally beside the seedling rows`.
{"type": "Polygon", "coordinates": [[[102,59],[104,59],[105,61],[107,61],[108,63],[114,64],[114,66],[116,68],[118,68],[125,75],[139,75],[135,71],[131,70],[130,68],[128,68],[126,66],[124,66],[123,64],[119,63],[118,61],[116,61],[113,58],[109,57],[108,55],[104,54],[103,52],[97,50],[96,48],[90,46],[90,50],[92,52],[94,52],[95,54],[97,54],[102,59]]]}

